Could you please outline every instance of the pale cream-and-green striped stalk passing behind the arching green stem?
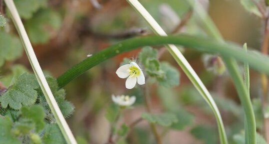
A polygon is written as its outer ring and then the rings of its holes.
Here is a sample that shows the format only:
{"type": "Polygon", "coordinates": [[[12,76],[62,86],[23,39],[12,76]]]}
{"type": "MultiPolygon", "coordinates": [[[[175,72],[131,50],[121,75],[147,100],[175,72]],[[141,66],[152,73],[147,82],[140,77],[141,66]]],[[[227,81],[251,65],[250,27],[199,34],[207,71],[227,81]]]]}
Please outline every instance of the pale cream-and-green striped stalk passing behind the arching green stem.
{"type": "MultiPolygon", "coordinates": [[[[144,18],[144,20],[146,20],[146,22],[149,24],[149,26],[151,27],[151,29],[156,35],[167,36],[164,30],[159,26],[159,24],[154,20],[154,18],[146,11],[146,9],[139,3],[139,1],[137,0],[127,0],[127,1],[144,18]]],[[[194,72],[192,67],[189,65],[185,57],[177,49],[177,47],[172,44],[166,44],[165,47],[168,49],[168,51],[173,56],[175,61],[182,68],[182,70],[187,75],[189,80],[192,82],[192,84],[195,86],[195,88],[199,91],[199,93],[202,95],[204,100],[208,103],[208,105],[212,109],[215,115],[216,121],[217,121],[220,143],[227,144],[227,138],[226,138],[223,122],[222,122],[219,110],[213,98],[211,97],[210,93],[205,88],[205,86],[203,85],[203,83],[201,82],[197,74],[194,72]]]]}

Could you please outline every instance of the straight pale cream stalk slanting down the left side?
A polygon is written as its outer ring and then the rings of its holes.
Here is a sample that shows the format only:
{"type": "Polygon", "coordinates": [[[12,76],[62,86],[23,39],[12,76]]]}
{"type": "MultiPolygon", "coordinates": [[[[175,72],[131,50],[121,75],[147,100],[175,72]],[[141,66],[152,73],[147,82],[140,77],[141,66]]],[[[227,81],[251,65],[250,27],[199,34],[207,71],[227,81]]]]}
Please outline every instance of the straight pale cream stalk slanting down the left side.
{"type": "Polygon", "coordinates": [[[61,111],[53,97],[53,94],[46,82],[45,76],[42,72],[42,69],[37,61],[37,58],[34,54],[33,48],[31,46],[30,40],[27,36],[27,33],[25,31],[25,28],[21,22],[21,19],[19,17],[19,14],[17,12],[17,9],[15,7],[15,4],[13,0],[4,0],[8,10],[10,11],[11,18],[14,22],[14,25],[18,31],[18,34],[21,38],[22,44],[24,46],[25,52],[27,54],[27,57],[29,59],[29,62],[32,66],[33,72],[36,76],[36,79],[40,85],[40,88],[45,96],[45,99],[48,103],[48,106],[53,114],[53,116],[56,119],[56,122],[61,130],[61,133],[63,137],[65,138],[65,141],[67,144],[77,144],[72,132],[70,131],[63,115],[61,114],[61,111]]]}

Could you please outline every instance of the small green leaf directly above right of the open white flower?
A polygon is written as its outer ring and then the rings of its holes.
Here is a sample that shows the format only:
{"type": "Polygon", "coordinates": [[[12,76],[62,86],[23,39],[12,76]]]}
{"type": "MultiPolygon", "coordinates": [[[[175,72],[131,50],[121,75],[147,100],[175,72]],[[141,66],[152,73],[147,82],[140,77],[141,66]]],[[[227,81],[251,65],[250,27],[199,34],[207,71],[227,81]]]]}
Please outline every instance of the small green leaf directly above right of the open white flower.
{"type": "Polygon", "coordinates": [[[139,61],[143,65],[146,65],[146,60],[147,59],[157,59],[157,54],[158,54],[158,51],[156,49],[153,49],[150,46],[145,46],[140,51],[138,58],[139,58],[139,61]]]}

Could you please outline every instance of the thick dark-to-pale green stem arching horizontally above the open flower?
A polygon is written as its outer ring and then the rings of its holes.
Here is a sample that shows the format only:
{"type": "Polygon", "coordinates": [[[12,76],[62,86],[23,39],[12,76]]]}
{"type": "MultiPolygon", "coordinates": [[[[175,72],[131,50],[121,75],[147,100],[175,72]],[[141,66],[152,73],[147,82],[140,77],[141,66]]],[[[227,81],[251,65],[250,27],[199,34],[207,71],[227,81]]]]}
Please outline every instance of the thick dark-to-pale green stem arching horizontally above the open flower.
{"type": "Polygon", "coordinates": [[[224,56],[230,56],[240,62],[247,62],[251,68],[269,75],[269,57],[250,50],[246,52],[241,46],[234,43],[219,43],[212,39],[189,35],[146,36],[123,40],[74,65],[58,77],[57,81],[59,87],[65,86],[71,80],[80,76],[90,68],[120,53],[131,51],[143,46],[163,45],[167,43],[182,45],[186,48],[193,48],[202,52],[218,53],[224,56]]]}

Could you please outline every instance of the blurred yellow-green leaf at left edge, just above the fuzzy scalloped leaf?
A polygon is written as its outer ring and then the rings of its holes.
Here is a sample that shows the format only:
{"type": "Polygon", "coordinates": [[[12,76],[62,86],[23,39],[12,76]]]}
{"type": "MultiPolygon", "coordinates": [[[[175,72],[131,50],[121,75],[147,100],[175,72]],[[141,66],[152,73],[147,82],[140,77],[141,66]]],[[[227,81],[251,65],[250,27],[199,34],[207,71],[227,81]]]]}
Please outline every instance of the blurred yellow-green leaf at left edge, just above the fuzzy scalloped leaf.
{"type": "Polygon", "coordinates": [[[28,72],[28,70],[23,65],[13,65],[11,67],[11,74],[0,78],[0,81],[5,87],[9,87],[25,72],[28,72]]]}

